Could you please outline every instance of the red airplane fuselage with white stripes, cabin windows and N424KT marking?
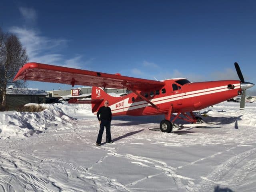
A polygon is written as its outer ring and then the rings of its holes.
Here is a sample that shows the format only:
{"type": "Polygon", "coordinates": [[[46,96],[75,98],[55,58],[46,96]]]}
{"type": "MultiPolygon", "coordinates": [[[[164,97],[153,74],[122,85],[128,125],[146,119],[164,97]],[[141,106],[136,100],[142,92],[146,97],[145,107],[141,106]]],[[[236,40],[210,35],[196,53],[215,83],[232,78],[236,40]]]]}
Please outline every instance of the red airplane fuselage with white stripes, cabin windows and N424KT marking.
{"type": "Polygon", "coordinates": [[[170,105],[172,105],[173,113],[191,112],[223,102],[241,93],[240,81],[238,80],[190,83],[189,81],[186,82],[186,79],[171,79],[164,80],[164,82],[166,85],[161,89],[139,91],[140,95],[158,108],[132,92],[123,97],[106,98],[109,100],[112,115],[166,114],[170,105]]]}

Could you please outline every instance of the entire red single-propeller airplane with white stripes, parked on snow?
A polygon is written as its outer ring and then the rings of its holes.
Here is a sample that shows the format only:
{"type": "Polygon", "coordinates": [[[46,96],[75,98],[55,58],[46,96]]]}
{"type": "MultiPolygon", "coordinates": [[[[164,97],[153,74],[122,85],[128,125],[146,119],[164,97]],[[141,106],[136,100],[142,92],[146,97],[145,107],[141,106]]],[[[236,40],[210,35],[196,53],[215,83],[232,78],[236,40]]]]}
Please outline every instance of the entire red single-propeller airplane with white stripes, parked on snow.
{"type": "Polygon", "coordinates": [[[208,82],[190,82],[185,78],[163,81],[148,80],[107,74],[88,70],[66,68],[40,63],[25,64],[14,77],[16,80],[34,80],[76,85],[92,86],[92,100],[69,100],[69,103],[90,103],[92,112],[97,113],[108,100],[113,116],[142,116],[164,114],[160,122],[162,132],[171,132],[179,118],[190,123],[202,122],[202,118],[193,114],[208,106],[241,95],[240,109],[244,109],[245,90],[254,84],[245,82],[240,67],[235,63],[239,80],[220,80],[208,82]],[[97,86],[97,87],[96,87],[97,86]],[[132,93],[113,97],[103,88],[127,88],[132,93]],[[190,115],[189,115],[190,114],[190,115]],[[171,117],[172,120],[171,120],[171,117]]]}

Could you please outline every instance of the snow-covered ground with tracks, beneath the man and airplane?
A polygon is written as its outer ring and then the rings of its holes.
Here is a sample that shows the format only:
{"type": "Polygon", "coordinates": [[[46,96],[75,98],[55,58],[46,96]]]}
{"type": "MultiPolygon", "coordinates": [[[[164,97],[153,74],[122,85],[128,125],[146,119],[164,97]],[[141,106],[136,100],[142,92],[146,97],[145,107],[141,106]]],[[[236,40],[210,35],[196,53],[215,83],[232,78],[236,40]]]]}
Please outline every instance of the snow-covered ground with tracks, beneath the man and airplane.
{"type": "MultiPolygon", "coordinates": [[[[0,191],[254,192],[256,103],[197,112],[214,127],[163,133],[163,116],[113,117],[113,144],[97,147],[88,104],[0,112],[0,191]]],[[[102,140],[105,140],[105,132],[102,140]]]]}

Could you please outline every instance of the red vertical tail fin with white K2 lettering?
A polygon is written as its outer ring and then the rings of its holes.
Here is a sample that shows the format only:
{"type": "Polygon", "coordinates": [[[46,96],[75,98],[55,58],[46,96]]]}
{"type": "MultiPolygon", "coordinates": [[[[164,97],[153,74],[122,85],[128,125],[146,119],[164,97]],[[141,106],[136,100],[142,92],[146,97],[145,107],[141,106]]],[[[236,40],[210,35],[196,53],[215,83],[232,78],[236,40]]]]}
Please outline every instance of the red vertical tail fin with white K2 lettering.
{"type": "Polygon", "coordinates": [[[108,102],[113,102],[117,98],[110,96],[100,87],[92,87],[92,100],[102,100],[102,102],[92,103],[92,112],[97,112],[101,106],[104,106],[104,100],[108,102]]]}

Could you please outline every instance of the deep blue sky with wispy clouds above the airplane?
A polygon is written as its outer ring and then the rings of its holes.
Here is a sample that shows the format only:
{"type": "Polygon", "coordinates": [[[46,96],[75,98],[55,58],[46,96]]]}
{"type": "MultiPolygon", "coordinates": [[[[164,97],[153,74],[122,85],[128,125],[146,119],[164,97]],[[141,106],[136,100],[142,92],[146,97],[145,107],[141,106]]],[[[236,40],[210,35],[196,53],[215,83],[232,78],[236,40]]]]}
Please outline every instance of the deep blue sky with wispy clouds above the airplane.
{"type": "MultiPolygon", "coordinates": [[[[238,79],[238,62],[256,84],[253,0],[4,0],[0,25],[19,36],[29,62],[192,82],[238,79]]],[[[33,81],[28,87],[72,88],[33,81]]],[[[256,87],[247,93],[256,95],[256,87]]]]}

